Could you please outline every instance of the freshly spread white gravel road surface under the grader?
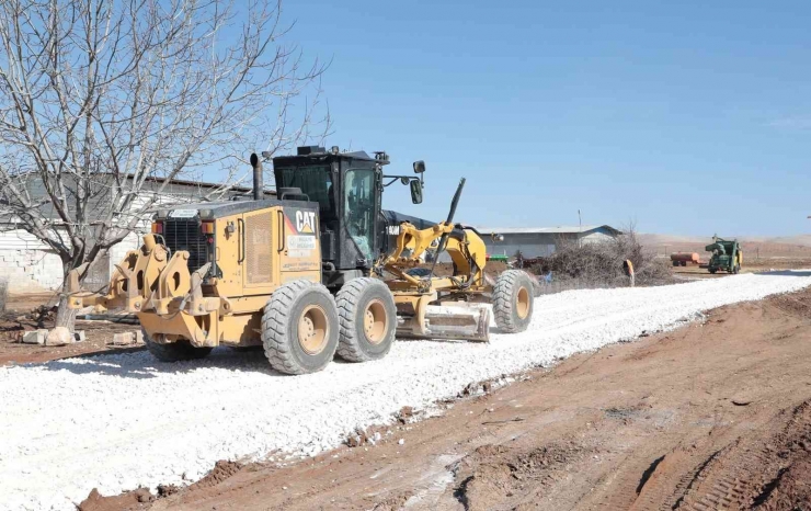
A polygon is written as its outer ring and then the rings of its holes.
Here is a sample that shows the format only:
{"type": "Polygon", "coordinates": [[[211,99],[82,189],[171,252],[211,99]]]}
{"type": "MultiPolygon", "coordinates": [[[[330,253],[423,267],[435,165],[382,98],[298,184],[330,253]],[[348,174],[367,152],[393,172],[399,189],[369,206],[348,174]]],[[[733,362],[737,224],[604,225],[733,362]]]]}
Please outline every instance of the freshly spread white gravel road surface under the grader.
{"type": "Polygon", "coordinates": [[[811,272],[538,298],[528,331],[489,344],[398,341],[384,360],[282,376],[260,352],[163,364],[149,353],[0,368],[0,509],[75,509],[103,495],[184,484],[222,458],[316,454],[468,383],[672,328],[710,308],[811,285],[811,272]],[[183,479],[185,476],[185,480],[183,479]]]}

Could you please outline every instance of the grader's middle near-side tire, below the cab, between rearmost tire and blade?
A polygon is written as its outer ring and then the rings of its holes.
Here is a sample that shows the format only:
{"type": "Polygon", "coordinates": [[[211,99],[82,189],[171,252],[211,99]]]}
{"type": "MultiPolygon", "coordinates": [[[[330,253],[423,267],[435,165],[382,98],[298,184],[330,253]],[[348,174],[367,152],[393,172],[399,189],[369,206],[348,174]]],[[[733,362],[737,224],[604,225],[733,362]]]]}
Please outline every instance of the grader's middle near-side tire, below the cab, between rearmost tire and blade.
{"type": "Polygon", "coordinates": [[[349,362],[386,356],[397,330],[397,306],[388,286],[377,279],[353,279],[335,302],[341,322],[338,355],[349,362]]]}

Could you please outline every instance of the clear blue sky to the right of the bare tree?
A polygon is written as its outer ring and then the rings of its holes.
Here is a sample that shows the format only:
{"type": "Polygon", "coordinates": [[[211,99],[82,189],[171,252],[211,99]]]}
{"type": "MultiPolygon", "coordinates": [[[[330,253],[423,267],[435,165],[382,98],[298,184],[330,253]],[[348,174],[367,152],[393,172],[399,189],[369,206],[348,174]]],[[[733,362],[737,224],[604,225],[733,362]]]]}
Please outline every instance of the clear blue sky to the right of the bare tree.
{"type": "Polygon", "coordinates": [[[288,0],[332,59],[328,145],[424,159],[425,202],[479,226],[811,231],[811,2],[288,0]],[[670,3],[670,4],[667,4],[670,3]]]}

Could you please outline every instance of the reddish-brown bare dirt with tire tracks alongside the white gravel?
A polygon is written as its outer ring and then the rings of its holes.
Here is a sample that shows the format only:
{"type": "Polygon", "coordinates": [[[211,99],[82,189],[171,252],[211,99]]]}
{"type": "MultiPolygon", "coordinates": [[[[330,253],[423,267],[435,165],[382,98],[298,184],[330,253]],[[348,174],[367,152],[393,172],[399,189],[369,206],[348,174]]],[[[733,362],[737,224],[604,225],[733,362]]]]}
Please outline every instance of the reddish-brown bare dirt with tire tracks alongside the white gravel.
{"type": "Polygon", "coordinates": [[[809,509],[809,318],[808,289],[722,307],[380,430],[374,446],[220,464],[152,502],[82,509],[809,509]]]}

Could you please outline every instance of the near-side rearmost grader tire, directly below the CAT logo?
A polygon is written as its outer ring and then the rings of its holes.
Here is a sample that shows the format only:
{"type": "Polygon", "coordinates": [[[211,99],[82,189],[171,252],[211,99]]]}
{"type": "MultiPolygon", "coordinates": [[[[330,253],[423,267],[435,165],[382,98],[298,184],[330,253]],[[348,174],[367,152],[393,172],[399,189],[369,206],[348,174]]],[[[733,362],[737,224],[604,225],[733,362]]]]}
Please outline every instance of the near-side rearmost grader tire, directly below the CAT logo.
{"type": "Polygon", "coordinates": [[[288,282],[273,292],[264,307],[262,344],[279,373],[323,370],[335,356],[338,334],[335,300],[320,283],[288,282]]]}

